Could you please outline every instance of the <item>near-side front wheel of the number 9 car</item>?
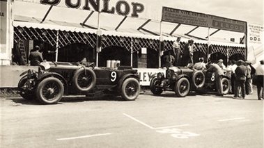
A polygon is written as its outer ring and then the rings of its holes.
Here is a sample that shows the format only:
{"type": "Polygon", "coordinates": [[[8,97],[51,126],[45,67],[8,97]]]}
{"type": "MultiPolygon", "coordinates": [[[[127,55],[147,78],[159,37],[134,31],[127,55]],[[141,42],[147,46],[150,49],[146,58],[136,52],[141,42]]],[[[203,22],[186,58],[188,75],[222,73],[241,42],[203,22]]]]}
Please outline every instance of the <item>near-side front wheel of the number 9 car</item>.
{"type": "Polygon", "coordinates": [[[59,79],[49,77],[38,84],[36,96],[42,104],[57,104],[63,92],[63,83],[59,79]]]}

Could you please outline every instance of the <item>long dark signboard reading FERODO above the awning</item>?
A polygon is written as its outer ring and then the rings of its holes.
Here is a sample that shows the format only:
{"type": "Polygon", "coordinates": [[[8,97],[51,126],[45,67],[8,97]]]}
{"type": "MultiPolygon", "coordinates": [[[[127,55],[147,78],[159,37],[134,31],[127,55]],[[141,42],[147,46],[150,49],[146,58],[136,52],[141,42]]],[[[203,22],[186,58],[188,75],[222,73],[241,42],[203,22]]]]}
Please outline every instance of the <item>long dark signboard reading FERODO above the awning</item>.
{"type": "Polygon", "coordinates": [[[219,28],[226,31],[236,31],[241,33],[246,33],[247,27],[247,22],[168,7],[162,8],[162,21],[219,28]]]}

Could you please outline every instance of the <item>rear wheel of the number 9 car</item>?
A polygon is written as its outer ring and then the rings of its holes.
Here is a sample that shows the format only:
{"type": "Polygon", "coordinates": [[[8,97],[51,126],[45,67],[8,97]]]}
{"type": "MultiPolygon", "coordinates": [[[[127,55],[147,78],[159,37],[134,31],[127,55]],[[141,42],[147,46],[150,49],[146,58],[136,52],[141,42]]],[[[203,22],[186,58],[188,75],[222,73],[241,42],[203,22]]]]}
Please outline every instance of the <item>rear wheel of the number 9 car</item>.
{"type": "Polygon", "coordinates": [[[140,85],[139,81],[134,78],[128,78],[123,81],[121,87],[121,96],[126,101],[134,101],[139,96],[140,85]]]}

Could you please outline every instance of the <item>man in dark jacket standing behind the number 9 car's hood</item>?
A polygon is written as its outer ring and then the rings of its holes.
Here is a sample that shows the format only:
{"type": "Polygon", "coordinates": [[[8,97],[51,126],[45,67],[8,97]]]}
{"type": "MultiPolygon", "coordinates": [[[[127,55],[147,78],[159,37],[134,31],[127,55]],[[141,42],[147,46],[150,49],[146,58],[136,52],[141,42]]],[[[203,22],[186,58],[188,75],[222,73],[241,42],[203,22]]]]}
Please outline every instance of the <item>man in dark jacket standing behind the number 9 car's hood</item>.
{"type": "Polygon", "coordinates": [[[31,50],[29,54],[29,60],[31,66],[38,66],[43,62],[42,54],[39,52],[40,47],[36,46],[33,50],[31,50]]]}

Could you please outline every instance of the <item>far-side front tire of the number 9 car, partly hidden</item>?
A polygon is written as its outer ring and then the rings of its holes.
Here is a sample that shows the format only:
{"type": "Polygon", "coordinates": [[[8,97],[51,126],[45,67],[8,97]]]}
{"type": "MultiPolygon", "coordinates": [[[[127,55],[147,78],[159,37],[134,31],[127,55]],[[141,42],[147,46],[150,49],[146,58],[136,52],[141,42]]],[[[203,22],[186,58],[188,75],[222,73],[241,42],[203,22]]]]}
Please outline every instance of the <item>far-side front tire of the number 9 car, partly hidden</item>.
{"type": "Polygon", "coordinates": [[[20,96],[26,100],[32,100],[36,98],[36,94],[33,91],[25,91],[22,87],[25,85],[27,81],[27,76],[23,76],[22,79],[18,82],[17,90],[20,96]]]}

